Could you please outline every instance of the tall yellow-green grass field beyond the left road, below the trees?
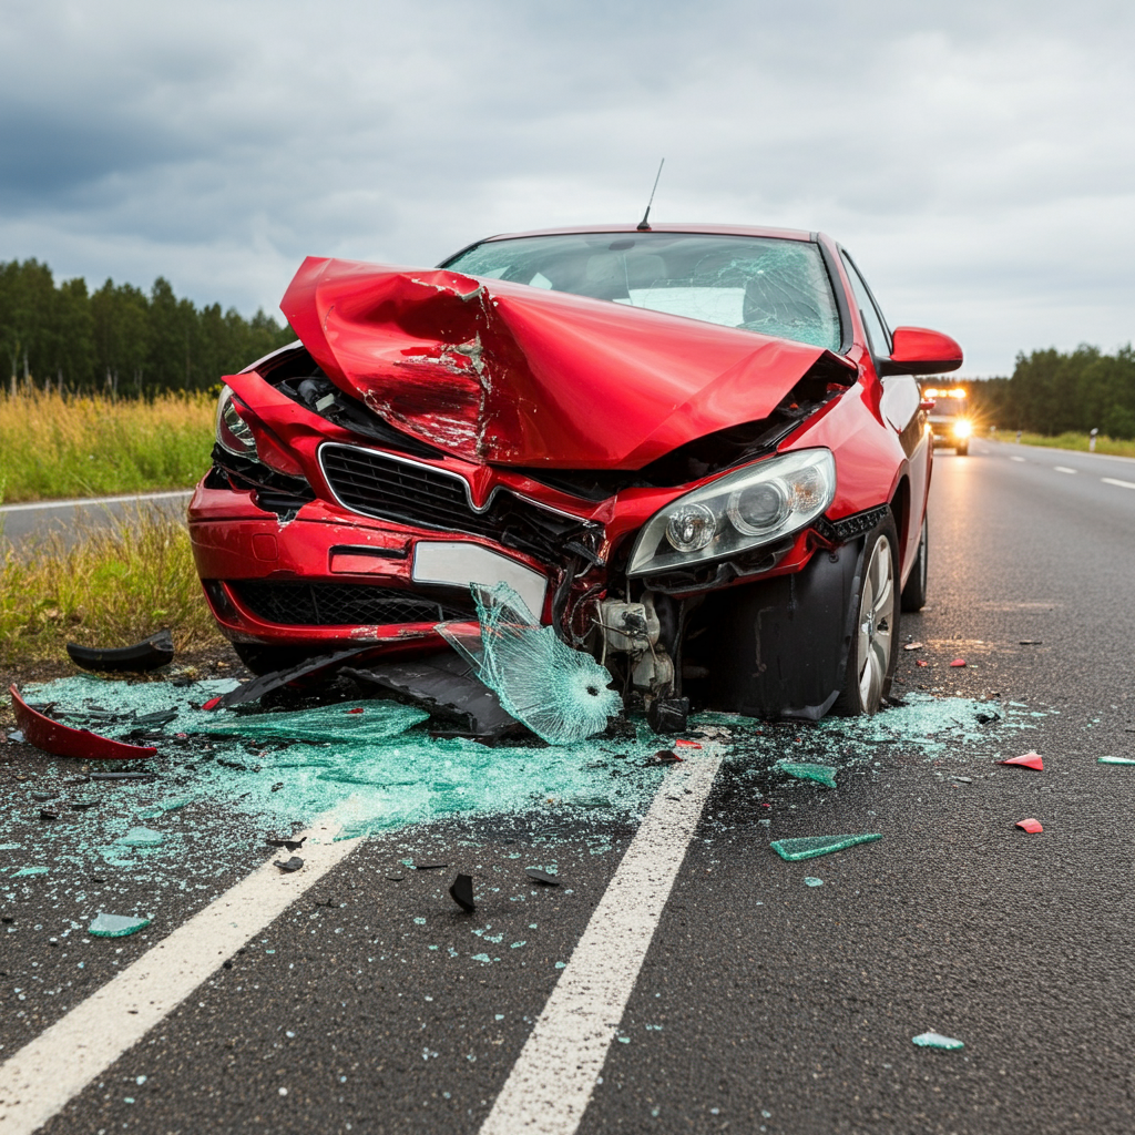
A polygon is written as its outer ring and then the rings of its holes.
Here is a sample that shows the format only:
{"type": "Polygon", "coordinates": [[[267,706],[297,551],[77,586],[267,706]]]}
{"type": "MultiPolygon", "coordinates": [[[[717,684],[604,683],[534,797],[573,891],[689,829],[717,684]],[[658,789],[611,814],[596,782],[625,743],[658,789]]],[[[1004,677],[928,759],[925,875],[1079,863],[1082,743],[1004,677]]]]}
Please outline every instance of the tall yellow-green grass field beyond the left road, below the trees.
{"type": "Polygon", "coordinates": [[[217,400],[0,393],[0,501],[190,488],[209,465],[217,400]]]}

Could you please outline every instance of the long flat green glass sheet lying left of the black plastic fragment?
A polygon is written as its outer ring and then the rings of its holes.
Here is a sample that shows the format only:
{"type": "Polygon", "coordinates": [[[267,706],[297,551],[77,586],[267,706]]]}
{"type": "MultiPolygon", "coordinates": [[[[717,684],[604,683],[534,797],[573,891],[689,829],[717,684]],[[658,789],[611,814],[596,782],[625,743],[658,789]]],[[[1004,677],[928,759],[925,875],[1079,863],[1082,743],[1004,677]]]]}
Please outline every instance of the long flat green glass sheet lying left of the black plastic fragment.
{"type": "MultiPolygon", "coordinates": [[[[213,711],[216,712],[216,711],[213,711]]],[[[227,715],[195,724],[190,732],[277,741],[346,741],[365,743],[396,737],[429,714],[396,701],[344,701],[291,713],[227,715]]]]}

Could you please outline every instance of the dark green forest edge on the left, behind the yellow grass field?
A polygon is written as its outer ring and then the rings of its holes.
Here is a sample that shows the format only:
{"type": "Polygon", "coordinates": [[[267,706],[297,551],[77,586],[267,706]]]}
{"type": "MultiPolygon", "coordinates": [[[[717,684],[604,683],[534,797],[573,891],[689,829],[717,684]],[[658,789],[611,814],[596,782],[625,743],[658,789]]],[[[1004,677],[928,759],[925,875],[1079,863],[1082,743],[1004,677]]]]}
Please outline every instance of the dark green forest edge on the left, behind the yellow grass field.
{"type": "Polygon", "coordinates": [[[81,278],[56,284],[37,260],[0,261],[0,362],[14,388],[204,390],[294,338],[263,311],[245,319],[179,300],[160,276],[149,292],[110,279],[91,292],[81,278]]]}

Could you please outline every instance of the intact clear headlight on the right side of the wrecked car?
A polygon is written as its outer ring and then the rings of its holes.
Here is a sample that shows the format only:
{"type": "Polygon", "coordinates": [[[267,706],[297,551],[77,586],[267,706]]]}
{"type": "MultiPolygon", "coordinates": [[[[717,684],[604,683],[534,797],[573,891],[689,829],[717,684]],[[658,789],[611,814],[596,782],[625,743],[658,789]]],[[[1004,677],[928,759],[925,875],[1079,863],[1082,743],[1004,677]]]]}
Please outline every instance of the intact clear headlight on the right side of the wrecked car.
{"type": "Polygon", "coordinates": [[[656,512],[631,553],[628,575],[688,568],[797,532],[835,496],[830,449],[800,449],[738,469],[656,512]]]}

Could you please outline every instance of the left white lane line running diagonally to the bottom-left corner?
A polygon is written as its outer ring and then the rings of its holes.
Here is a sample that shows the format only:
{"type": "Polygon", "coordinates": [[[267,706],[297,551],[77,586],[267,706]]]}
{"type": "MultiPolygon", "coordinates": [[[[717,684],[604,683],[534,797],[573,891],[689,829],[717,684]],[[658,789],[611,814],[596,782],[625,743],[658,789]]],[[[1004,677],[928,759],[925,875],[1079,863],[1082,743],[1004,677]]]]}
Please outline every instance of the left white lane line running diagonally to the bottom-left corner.
{"type": "Polygon", "coordinates": [[[321,816],[305,833],[302,871],[283,874],[269,859],[0,1065],[0,1132],[31,1135],[47,1123],[342,863],[360,841],[331,842],[338,830],[330,814],[321,816]]]}

